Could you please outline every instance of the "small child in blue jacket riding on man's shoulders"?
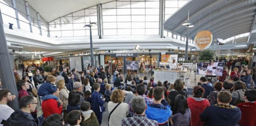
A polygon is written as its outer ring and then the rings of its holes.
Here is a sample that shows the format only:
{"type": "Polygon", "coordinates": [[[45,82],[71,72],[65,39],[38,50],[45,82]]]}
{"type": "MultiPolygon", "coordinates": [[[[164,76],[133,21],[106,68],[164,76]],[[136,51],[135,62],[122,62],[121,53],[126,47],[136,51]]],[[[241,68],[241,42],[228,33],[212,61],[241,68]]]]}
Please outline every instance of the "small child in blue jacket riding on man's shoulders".
{"type": "Polygon", "coordinates": [[[57,87],[55,85],[56,81],[56,77],[49,75],[46,79],[46,82],[42,84],[38,89],[37,94],[39,96],[45,96],[55,93],[57,91],[57,87]]]}

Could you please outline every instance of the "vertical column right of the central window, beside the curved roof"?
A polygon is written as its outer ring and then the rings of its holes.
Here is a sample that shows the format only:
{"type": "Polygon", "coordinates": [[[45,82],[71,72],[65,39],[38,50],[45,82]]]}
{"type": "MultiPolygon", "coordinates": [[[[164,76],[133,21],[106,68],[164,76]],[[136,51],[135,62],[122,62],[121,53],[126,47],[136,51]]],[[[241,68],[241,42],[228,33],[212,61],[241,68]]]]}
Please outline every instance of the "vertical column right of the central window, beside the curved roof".
{"type": "Polygon", "coordinates": [[[164,17],[165,17],[165,0],[159,1],[159,35],[160,38],[164,37],[164,17]]]}

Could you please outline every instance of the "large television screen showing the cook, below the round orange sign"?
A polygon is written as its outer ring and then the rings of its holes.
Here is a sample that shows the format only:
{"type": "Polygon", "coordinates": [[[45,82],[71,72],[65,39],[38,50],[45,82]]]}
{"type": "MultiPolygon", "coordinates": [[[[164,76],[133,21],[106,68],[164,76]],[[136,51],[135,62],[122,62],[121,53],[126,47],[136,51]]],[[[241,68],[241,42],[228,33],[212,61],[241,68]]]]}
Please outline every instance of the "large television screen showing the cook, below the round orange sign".
{"type": "Polygon", "coordinates": [[[223,62],[197,62],[198,75],[222,76],[223,62]]]}

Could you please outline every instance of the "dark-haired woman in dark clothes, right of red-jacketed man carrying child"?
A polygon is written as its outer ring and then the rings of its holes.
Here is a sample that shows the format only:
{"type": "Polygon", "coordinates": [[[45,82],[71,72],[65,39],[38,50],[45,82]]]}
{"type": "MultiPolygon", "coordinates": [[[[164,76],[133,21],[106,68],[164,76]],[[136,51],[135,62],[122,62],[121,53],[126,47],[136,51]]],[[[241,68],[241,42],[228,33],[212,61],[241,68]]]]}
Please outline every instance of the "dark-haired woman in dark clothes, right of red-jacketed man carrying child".
{"type": "Polygon", "coordinates": [[[67,113],[72,110],[80,110],[80,92],[71,90],[68,94],[67,113]]]}

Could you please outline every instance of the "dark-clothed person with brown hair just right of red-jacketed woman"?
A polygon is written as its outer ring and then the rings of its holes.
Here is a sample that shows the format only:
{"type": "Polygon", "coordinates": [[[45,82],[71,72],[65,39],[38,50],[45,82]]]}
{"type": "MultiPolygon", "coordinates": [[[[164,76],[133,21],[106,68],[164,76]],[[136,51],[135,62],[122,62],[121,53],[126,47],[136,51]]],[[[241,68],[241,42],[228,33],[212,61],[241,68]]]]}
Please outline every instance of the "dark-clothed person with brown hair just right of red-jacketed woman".
{"type": "Polygon", "coordinates": [[[210,92],[210,94],[207,96],[208,101],[210,102],[210,104],[217,104],[217,94],[218,92],[222,89],[222,82],[216,82],[214,84],[214,91],[210,92]]]}

